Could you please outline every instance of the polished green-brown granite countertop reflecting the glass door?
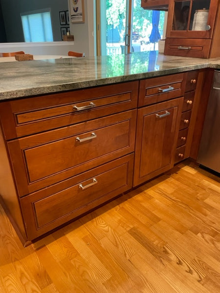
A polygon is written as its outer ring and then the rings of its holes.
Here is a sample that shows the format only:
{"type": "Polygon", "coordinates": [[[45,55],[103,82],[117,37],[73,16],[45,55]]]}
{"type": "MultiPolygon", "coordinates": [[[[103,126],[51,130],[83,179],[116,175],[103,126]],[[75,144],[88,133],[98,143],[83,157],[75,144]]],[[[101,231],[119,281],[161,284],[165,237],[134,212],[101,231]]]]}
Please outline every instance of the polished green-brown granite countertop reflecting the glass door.
{"type": "Polygon", "coordinates": [[[201,68],[220,69],[220,58],[128,55],[0,63],[0,100],[134,81],[201,68]]]}

